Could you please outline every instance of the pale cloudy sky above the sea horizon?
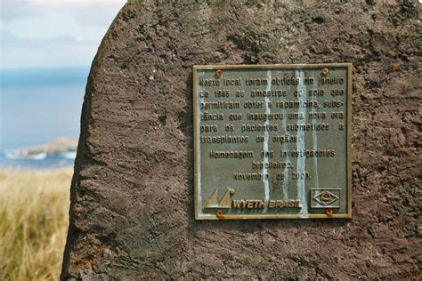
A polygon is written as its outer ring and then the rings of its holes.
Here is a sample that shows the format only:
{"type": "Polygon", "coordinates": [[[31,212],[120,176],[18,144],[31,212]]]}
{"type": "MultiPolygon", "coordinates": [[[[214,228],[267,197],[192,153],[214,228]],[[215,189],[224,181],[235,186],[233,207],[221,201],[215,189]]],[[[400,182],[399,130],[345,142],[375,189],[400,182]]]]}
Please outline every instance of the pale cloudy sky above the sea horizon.
{"type": "Polygon", "coordinates": [[[0,0],[1,68],[87,66],[126,0],[0,0]]]}

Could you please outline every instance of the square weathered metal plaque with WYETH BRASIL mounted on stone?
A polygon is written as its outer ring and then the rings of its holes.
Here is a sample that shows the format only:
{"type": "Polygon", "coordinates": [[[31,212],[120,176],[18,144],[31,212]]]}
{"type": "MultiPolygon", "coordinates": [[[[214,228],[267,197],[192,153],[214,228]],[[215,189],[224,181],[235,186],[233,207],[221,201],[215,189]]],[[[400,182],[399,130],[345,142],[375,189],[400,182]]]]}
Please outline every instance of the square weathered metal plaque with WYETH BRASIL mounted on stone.
{"type": "Polygon", "coordinates": [[[193,67],[195,218],[352,216],[352,64],[193,67]]]}

